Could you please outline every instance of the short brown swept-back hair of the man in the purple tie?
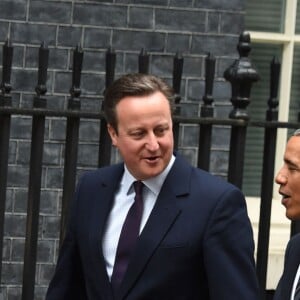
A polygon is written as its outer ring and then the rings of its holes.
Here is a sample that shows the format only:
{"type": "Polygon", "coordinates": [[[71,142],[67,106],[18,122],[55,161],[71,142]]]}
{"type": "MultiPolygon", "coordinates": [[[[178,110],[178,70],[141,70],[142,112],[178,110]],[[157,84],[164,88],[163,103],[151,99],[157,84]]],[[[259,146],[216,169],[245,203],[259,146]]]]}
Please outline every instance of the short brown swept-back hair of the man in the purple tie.
{"type": "Polygon", "coordinates": [[[104,94],[104,115],[116,131],[118,120],[116,115],[117,104],[128,96],[147,96],[161,92],[169,100],[171,114],[174,109],[173,89],[161,78],[149,74],[126,74],[115,80],[104,94]]]}

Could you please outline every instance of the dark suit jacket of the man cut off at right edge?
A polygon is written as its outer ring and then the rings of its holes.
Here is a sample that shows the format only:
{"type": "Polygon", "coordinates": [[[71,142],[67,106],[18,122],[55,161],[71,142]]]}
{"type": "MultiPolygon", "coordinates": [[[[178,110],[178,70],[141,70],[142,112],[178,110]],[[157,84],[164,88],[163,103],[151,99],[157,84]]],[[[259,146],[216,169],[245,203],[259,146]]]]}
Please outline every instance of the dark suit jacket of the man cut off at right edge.
{"type": "Polygon", "coordinates": [[[279,280],[274,300],[290,299],[299,264],[300,234],[296,234],[290,239],[286,247],[283,274],[279,280]]]}

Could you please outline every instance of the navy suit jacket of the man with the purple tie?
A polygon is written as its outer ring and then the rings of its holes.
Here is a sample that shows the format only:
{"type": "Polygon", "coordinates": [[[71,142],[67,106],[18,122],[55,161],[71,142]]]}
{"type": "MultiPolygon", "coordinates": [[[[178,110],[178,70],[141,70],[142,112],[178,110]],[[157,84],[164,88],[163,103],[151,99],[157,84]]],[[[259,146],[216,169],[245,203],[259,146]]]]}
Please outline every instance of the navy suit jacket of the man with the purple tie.
{"type": "MultiPolygon", "coordinates": [[[[113,299],[101,240],[123,171],[81,178],[47,300],[113,299]]],[[[177,156],[115,299],[258,299],[253,252],[242,193],[177,156]]]]}

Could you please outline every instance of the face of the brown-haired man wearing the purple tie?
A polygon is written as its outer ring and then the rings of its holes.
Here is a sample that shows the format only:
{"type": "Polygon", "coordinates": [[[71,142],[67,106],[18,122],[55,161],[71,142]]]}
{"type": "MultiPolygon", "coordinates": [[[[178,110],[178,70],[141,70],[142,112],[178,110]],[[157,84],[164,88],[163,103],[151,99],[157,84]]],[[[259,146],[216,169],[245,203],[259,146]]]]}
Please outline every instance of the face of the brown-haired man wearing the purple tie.
{"type": "Polygon", "coordinates": [[[160,174],[173,153],[173,130],[169,101],[156,92],[123,98],[116,106],[118,132],[108,124],[116,146],[130,173],[139,180],[160,174]]]}

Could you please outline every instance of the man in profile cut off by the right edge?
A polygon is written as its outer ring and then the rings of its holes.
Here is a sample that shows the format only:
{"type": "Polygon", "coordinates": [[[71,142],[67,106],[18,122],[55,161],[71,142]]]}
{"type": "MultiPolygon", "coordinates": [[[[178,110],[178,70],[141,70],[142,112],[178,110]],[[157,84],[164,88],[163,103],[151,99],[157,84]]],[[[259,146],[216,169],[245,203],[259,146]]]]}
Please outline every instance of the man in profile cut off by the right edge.
{"type": "MultiPolygon", "coordinates": [[[[288,140],[284,153],[284,164],[276,175],[280,185],[282,204],[290,220],[300,219],[300,130],[296,130],[288,140]]],[[[294,235],[286,248],[284,270],[278,283],[274,299],[294,300],[300,277],[300,234],[294,235]]],[[[297,298],[298,297],[298,298],[297,298]]]]}

